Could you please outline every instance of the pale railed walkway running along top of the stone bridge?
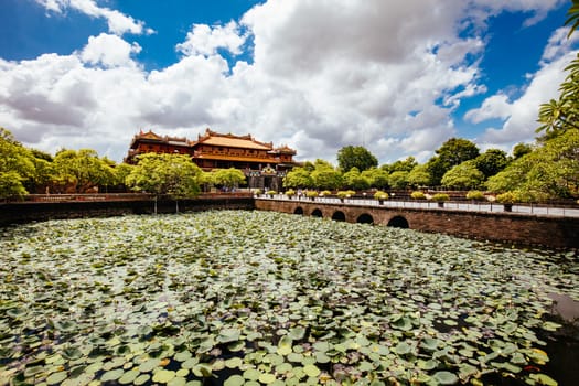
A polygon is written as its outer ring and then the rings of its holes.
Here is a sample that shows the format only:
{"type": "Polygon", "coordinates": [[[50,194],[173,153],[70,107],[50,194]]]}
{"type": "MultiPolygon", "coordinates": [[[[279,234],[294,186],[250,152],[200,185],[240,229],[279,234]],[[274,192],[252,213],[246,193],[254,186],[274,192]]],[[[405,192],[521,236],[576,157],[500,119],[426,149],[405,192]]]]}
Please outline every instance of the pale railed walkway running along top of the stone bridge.
{"type": "MultiPolygon", "coordinates": [[[[276,194],[274,199],[261,195],[260,200],[290,200],[287,195],[276,194]]],[[[309,202],[312,201],[308,197],[292,197],[291,201],[309,202]]],[[[481,203],[467,203],[458,201],[444,202],[444,207],[440,208],[437,202],[432,201],[403,201],[403,200],[385,200],[380,205],[377,200],[373,199],[345,199],[341,202],[336,197],[315,197],[314,202],[325,204],[346,204],[346,205],[360,205],[360,206],[383,206],[383,207],[405,207],[405,208],[427,208],[427,210],[454,210],[465,212],[504,212],[503,204],[481,202],[481,203]]],[[[569,207],[554,207],[538,204],[521,204],[513,205],[513,213],[530,214],[536,216],[557,216],[557,217],[579,217],[579,208],[569,207]]]]}

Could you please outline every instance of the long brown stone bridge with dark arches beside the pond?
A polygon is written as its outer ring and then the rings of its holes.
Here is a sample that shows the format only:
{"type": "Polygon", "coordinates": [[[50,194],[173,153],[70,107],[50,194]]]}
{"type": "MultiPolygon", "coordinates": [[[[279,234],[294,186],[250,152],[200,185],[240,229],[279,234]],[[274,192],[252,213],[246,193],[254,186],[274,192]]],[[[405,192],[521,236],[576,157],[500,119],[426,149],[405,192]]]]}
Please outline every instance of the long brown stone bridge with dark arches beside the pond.
{"type": "Polygon", "coordinates": [[[349,223],[376,224],[459,237],[579,248],[579,217],[452,208],[388,207],[319,201],[256,199],[255,207],[349,223]]]}

